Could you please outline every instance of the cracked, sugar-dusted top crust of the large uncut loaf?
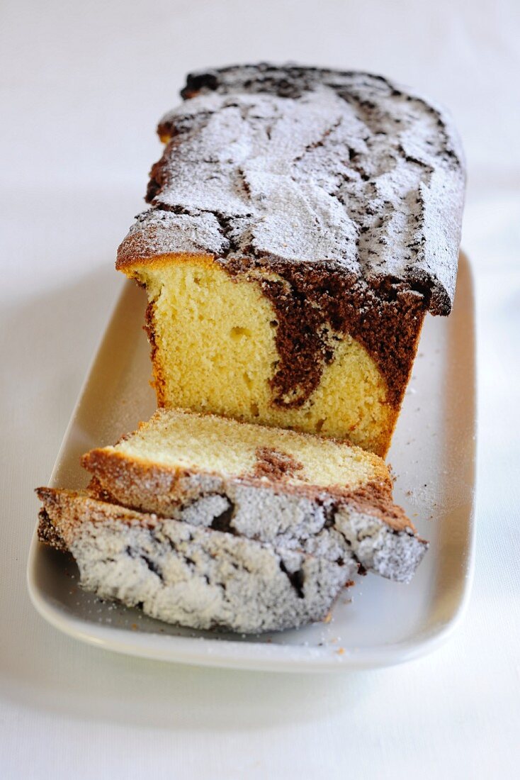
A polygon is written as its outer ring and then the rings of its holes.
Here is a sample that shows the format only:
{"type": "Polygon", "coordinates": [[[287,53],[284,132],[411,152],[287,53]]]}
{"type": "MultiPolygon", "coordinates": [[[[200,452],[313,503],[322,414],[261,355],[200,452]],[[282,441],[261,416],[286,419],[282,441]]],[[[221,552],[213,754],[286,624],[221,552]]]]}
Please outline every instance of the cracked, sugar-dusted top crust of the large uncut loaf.
{"type": "Polygon", "coordinates": [[[182,97],[118,268],[325,264],[449,314],[465,173],[444,111],[381,76],[267,63],[190,74],[182,97]]]}

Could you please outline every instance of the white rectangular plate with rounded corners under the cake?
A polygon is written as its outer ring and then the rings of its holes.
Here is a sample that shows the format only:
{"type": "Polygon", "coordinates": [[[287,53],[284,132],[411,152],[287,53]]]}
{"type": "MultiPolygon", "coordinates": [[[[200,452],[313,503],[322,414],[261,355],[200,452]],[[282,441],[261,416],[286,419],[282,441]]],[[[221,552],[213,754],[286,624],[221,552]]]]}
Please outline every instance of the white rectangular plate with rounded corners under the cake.
{"type": "MultiPolygon", "coordinates": [[[[80,456],[113,444],[155,408],[146,300],[127,282],[65,433],[51,486],[83,488],[80,456]]],[[[287,672],[339,671],[408,661],[432,650],[461,618],[472,573],[475,491],[475,345],[472,278],[460,259],[450,317],[426,317],[388,460],[394,497],[430,550],[408,586],[368,574],[331,622],[262,636],[168,626],[78,587],[69,558],[34,534],[30,597],[53,626],[98,647],[161,661],[287,672]]]]}

